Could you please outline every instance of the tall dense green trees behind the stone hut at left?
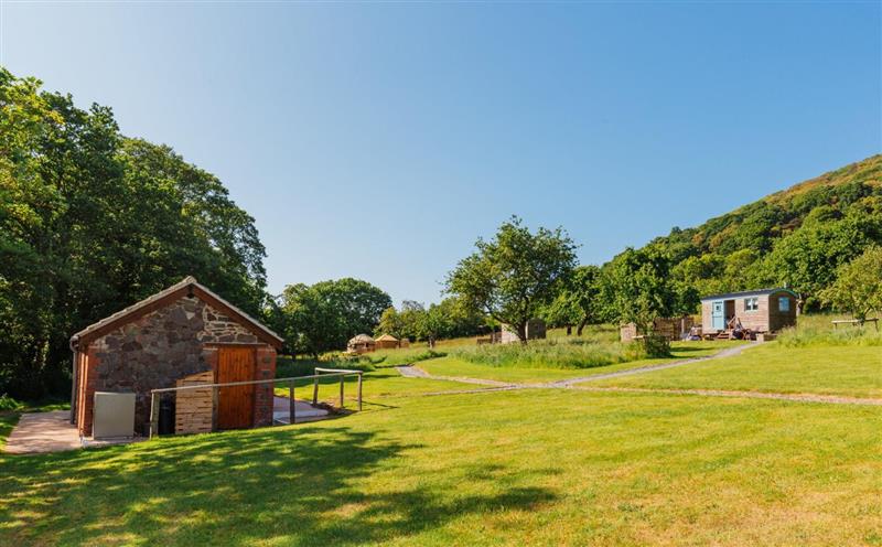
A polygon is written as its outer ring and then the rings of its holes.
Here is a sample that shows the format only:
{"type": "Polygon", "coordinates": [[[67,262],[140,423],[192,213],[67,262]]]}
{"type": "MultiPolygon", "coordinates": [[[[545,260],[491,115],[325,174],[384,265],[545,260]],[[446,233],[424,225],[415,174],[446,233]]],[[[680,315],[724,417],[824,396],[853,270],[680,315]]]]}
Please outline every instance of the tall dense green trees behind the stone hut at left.
{"type": "Polygon", "coordinates": [[[69,336],[186,275],[259,313],[265,249],[223,184],[40,85],[0,68],[0,392],[69,393],[69,336]]]}

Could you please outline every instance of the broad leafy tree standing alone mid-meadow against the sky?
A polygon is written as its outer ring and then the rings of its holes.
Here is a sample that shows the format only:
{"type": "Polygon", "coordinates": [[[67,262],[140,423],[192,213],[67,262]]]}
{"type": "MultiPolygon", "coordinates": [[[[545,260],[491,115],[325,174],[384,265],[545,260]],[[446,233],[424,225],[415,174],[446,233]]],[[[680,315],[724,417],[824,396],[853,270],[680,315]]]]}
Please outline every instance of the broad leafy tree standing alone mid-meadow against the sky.
{"type": "Polygon", "coordinates": [[[517,217],[448,275],[445,290],[473,310],[512,325],[523,343],[527,322],[555,299],[576,266],[576,246],[562,228],[536,234],[517,217]]]}

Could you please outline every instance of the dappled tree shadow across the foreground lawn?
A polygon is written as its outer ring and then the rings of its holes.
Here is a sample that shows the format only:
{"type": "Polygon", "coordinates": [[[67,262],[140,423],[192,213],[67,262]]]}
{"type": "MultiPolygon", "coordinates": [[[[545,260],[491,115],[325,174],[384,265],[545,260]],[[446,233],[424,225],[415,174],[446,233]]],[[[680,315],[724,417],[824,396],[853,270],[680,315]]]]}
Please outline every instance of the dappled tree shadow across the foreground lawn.
{"type": "Polygon", "coordinates": [[[407,466],[421,449],[381,431],[300,426],[8,457],[0,545],[384,543],[555,498],[496,464],[427,484],[407,466]],[[451,495],[462,480],[469,491],[451,495]]]}

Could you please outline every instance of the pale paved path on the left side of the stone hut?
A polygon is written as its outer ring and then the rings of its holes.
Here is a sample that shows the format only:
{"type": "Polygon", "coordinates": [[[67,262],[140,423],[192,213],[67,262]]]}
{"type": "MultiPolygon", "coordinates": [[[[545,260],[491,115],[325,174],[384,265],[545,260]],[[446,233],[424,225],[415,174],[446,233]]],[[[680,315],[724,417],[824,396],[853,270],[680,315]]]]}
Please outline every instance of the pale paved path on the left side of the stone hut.
{"type": "Polygon", "coordinates": [[[71,425],[71,411],[54,410],[21,415],[4,450],[10,454],[35,454],[82,447],[76,426],[71,425]]]}

